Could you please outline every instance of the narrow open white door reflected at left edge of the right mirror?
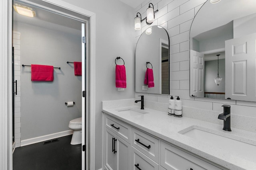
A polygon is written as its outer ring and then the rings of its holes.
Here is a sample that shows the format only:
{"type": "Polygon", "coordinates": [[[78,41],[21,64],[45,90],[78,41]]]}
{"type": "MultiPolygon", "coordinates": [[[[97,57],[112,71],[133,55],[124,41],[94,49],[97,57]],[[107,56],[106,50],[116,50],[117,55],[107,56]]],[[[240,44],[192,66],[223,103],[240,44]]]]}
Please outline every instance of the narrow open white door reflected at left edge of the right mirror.
{"type": "Polygon", "coordinates": [[[190,95],[204,97],[204,54],[190,50],[190,95]]]}

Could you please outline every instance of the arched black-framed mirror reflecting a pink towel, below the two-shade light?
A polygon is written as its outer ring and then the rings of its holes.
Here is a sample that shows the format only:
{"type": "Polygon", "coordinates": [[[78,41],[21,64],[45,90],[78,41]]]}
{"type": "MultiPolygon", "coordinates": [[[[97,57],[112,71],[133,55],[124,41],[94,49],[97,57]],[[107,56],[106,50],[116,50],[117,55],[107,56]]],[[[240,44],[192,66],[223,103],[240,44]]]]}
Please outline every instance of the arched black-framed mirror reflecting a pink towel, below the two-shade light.
{"type": "Polygon", "coordinates": [[[160,26],[146,29],[135,50],[135,92],[169,94],[169,36],[160,26]],[[153,69],[154,87],[144,84],[147,68],[153,69]]]}

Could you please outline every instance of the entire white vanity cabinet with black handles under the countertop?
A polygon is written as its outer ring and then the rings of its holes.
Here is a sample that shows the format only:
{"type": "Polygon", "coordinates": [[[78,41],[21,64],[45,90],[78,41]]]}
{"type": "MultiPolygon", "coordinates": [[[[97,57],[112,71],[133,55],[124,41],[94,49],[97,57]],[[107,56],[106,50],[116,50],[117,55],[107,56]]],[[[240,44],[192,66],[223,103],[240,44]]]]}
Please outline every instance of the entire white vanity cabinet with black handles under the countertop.
{"type": "Polygon", "coordinates": [[[103,170],[226,170],[108,114],[104,132],[103,170]]]}

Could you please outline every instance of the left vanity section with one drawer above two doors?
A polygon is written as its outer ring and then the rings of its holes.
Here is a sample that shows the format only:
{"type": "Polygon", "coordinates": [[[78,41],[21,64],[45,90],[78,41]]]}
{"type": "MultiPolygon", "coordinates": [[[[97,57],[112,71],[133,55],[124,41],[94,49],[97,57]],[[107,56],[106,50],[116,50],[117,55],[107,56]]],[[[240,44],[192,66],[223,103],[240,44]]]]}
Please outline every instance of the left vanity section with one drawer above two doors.
{"type": "Polygon", "coordinates": [[[131,168],[131,127],[106,115],[104,133],[105,170],[130,170],[131,168]],[[113,125],[114,124],[114,125],[113,125]]]}

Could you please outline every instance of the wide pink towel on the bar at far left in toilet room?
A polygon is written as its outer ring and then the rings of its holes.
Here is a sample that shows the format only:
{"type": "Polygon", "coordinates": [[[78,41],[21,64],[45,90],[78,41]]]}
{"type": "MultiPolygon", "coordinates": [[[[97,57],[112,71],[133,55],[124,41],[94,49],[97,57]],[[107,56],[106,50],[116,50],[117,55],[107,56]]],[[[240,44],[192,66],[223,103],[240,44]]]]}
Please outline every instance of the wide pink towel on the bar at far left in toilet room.
{"type": "Polygon", "coordinates": [[[53,81],[53,66],[31,64],[31,81],[53,81]]]}

